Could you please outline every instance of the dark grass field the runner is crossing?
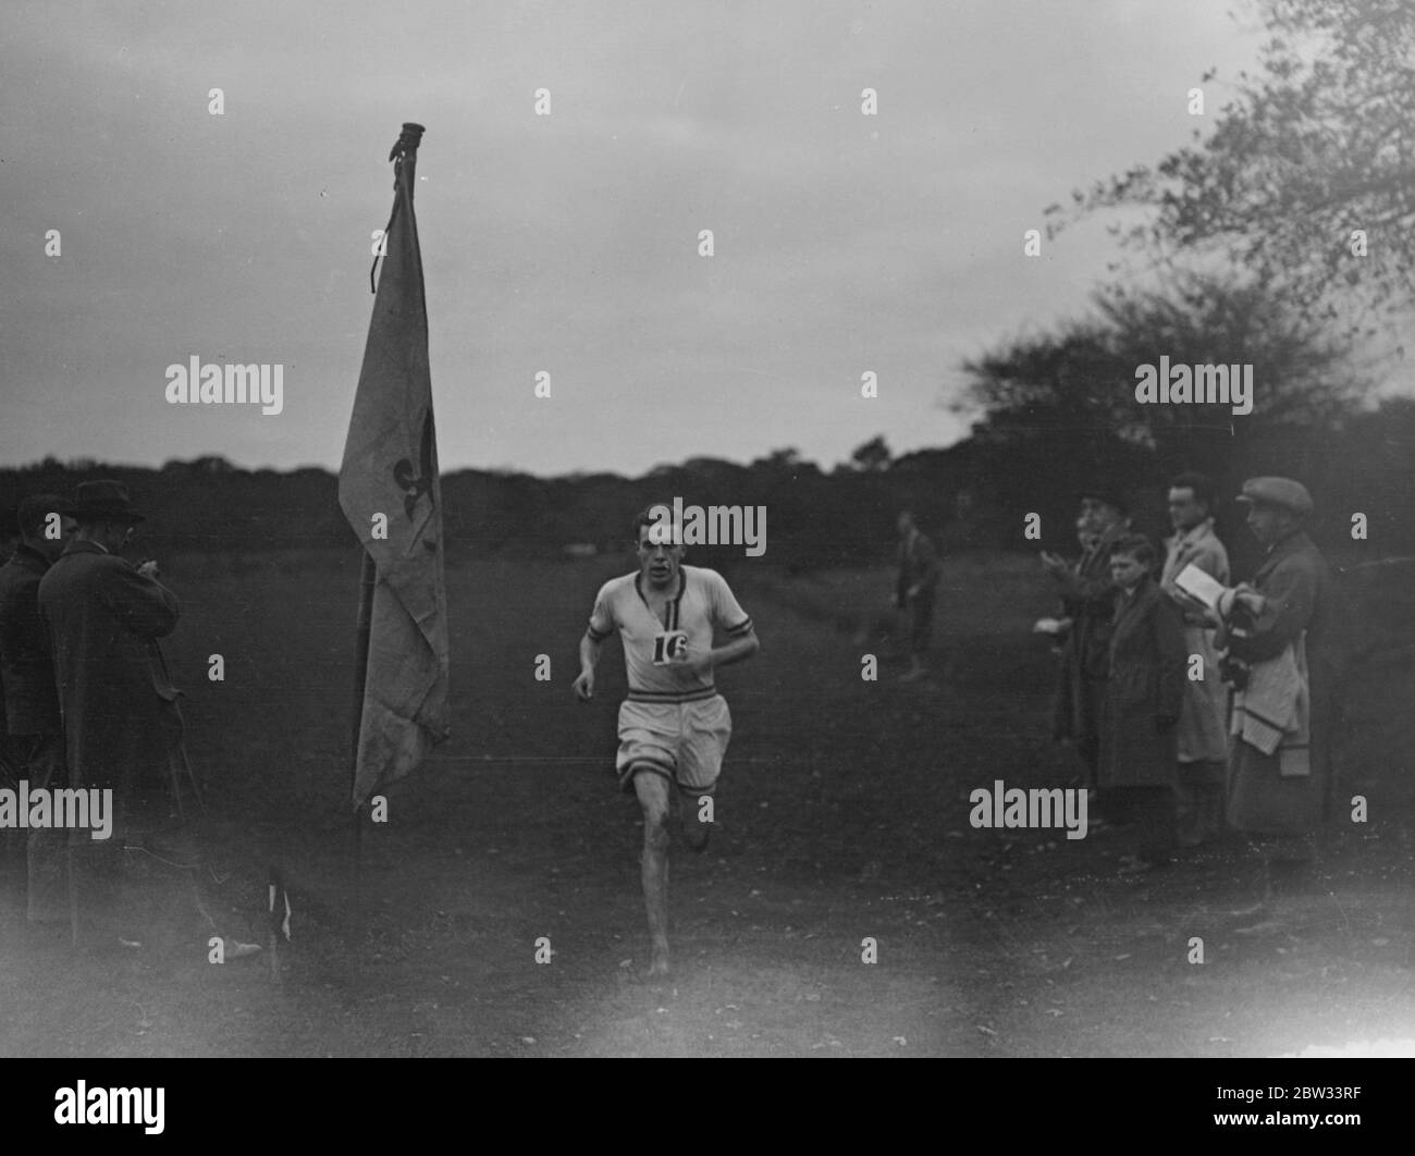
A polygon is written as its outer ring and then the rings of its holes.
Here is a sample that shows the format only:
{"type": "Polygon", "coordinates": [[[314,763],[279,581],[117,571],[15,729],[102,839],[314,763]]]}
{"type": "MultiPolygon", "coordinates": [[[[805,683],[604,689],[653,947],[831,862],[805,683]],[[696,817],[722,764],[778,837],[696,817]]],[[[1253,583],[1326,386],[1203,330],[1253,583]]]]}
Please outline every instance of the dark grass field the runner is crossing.
{"type": "Polygon", "coordinates": [[[617,645],[593,703],[569,689],[594,591],[624,569],[449,567],[453,737],[388,792],[355,886],[357,557],[171,559],[184,618],[167,652],[225,918],[259,935],[279,865],[293,942],[279,979],[267,958],[211,965],[205,940],[161,930],[180,896],[151,873],[134,882],[151,942],[74,956],[24,928],[8,862],[0,1053],[1234,1056],[1415,1037],[1408,666],[1351,686],[1341,765],[1371,822],[1329,832],[1323,893],[1281,928],[1228,935],[1220,915],[1251,874],[1238,849],[1133,880],[1111,832],[968,825],[975,787],[1075,774],[1049,741],[1054,659],[1029,631],[1051,604],[1029,559],[948,563],[945,661],[914,685],[879,637],[889,572],[734,579],[763,649],[719,675],[734,732],[712,848],[672,852],[676,975],[635,982],[648,942],[638,808],[610,773],[617,645]]]}

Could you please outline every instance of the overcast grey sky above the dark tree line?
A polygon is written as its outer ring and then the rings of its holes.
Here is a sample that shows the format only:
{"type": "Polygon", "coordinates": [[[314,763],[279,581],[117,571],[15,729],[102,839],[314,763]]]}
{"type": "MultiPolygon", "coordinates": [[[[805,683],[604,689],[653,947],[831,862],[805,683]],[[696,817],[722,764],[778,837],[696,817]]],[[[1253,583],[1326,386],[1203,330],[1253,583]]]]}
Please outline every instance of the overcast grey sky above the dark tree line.
{"type": "Polygon", "coordinates": [[[948,444],[959,361],[1115,256],[1024,231],[1259,42],[1242,0],[6,0],[0,464],[337,467],[403,120],[444,470],[948,444]],[[170,406],[192,355],[283,364],[283,412],[170,406]]]}

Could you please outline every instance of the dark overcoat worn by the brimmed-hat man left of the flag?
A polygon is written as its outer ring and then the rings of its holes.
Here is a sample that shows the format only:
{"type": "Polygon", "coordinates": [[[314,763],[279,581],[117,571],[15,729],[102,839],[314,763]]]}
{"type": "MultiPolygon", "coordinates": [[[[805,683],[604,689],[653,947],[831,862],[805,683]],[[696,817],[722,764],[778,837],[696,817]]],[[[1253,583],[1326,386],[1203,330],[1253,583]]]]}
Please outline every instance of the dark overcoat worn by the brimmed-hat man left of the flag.
{"type": "Polygon", "coordinates": [[[40,582],[64,716],[69,784],[110,787],[127,802],[168,782],[181,739],[178,690],[157,640],[177,596],[92,542],[75,541],[40,582]]]}

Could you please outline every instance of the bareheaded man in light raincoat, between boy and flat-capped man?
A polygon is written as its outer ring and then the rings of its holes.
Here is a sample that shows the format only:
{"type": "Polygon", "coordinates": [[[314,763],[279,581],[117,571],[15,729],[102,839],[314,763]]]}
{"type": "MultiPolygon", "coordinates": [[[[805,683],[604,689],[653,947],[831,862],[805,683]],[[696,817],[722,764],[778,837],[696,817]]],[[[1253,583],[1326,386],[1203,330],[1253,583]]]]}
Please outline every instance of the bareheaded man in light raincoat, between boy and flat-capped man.
{"type": "Polygon", "coordinates": [[[1169,484],[1169,518],[1174,536],[1165,539],[1160,589],[1184,613],[1184,645],[1190,664],[1176,732],[1180,846],[1199,846],[1217,839],[1224,822],[1228,688],[1218,671],[1213,623],[1190,608],[1183,597],[1186,593],[1197,596],[1217,607],[1218,591],[1228,584],[1228,550],[1214,533],[1213,507],[1214,484],[1203,474],[1180,474],[1169,484]],[[1177,582],[1180,574],[1184,576],[1183,587],[1177,582]],[[1210,580],[1207,586],[1204,579],[1210,580]],[[1196,655],[1203,665],[1194,664],[1196,655]]]}

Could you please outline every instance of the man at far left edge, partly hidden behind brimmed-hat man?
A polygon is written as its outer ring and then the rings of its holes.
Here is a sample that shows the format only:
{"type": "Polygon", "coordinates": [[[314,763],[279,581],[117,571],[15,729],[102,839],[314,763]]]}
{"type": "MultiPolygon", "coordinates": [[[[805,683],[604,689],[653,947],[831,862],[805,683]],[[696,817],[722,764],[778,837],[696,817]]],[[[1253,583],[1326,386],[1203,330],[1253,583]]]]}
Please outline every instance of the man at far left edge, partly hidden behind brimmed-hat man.
{"type": "MultiPolygon", "coordinates": [[[[50,637],[40,617],[40,580],[74,532],[72,507],[58,494],[35,494],[17,511],[20,545],[0,566],[0,675],[14,782],[31,791],[67,785],[64,729],[54,689],[50,637]]],[[[25,836],[27,918],[68,920],[65,835],[34,829],[25,836]]]]}

